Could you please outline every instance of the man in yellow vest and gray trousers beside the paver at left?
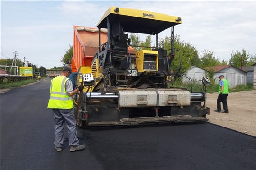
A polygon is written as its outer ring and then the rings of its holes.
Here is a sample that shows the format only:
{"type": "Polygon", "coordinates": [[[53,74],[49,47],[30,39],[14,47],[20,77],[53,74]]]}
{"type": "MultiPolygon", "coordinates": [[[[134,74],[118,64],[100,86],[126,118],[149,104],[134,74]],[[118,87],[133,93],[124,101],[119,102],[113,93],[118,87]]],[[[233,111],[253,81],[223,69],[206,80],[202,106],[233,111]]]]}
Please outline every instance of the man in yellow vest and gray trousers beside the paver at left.
{"type": "Polygon", "coordinates": [[[64,140],[64,124],[68,128],[69,151],[77,151],[85,148],[85,145],[78,144],[76,120],[73,113],[72,96],[82,91],[84,86],[80,85],[73,90],[73,85],[68,76],[71,74],[71,68],[64,66],[60,76],[55,77],[51,81],[50,100],[48,108],[53,110],[54,129],[55,129],[55,149],[62,151],[64,140]]]}

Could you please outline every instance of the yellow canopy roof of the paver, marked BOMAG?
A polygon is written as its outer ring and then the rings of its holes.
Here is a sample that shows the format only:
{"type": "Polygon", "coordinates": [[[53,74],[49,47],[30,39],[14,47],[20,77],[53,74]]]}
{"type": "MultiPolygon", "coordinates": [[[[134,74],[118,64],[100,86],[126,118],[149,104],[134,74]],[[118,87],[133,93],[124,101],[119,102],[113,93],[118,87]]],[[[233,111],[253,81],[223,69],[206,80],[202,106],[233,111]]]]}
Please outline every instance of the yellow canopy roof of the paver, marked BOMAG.
{"type": "Polygon", "coordinates": [[[158,34],[167,28],[182,23],[181,17],[137,9],[110,7],[97,27],[107,28],[107,17],[110,26],[118,19],[123,31],[130,33],[158,34]]]}

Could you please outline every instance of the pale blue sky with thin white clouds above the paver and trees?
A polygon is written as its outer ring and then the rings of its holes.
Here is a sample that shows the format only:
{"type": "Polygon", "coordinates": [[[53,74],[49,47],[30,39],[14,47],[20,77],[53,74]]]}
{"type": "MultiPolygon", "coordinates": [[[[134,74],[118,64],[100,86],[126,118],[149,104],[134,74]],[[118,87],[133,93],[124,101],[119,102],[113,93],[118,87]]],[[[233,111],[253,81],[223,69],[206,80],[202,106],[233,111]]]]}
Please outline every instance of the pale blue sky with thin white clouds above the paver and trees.
{"type": "MultiPolygon", "coordinates": [[[[25,60],[46,69],[73,44],[73,25],[95,27],[110,6],[179,16],[175,34],[202,55],[214,51],[228,61],[245,49],[256,55],[256,1],[0,1],[1,59],[25,60]]],[[[170,36],[170,30],[159,38],[170,36]]],[[[144,35],[140,35],[145,40],[144,35]]],[[[153,42],[154,44],[154,42],[153,42]]]]}

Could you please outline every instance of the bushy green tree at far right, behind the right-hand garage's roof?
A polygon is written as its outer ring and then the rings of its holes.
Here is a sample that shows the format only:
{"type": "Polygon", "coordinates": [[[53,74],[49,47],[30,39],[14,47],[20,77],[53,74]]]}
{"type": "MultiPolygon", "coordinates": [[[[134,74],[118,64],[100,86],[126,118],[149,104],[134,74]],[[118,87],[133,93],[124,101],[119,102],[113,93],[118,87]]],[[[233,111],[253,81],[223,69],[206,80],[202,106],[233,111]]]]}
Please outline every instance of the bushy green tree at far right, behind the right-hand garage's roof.
{"type": "Polygon", "coordinates": [[[236,68],[240,68],[241,66],[247,66],[249,61],[247,61],[250,58],[249,53],[246,54],[246,50],[242,49],[242,52],[237,51],[234,55],[231,56],[231,59],[229,60],[229,64],[232,64],[236,68]]]}

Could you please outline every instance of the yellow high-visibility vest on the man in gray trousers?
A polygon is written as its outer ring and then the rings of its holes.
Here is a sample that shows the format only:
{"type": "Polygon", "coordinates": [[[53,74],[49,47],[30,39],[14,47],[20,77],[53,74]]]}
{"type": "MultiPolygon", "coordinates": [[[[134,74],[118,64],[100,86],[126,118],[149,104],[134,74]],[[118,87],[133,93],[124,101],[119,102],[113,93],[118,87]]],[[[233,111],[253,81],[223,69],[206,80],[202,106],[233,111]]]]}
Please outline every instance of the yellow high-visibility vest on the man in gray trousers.
{"type": "Polygon", "coordinates": [[[65,89],[65,84],[69,78],[65,76],[57,76],[51,81],[50,100],[48,108],[50,109],[72,109],[73,100],[65,89]]]}

